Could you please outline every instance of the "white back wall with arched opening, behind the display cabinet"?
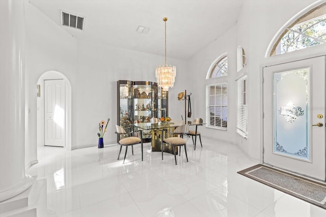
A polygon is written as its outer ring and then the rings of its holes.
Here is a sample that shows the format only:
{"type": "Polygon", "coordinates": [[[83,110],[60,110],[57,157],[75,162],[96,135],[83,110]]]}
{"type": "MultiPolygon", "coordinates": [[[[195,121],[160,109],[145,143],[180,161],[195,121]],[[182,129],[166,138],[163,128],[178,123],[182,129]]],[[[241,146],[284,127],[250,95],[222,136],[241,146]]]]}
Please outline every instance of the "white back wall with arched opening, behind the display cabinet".
{"type": "MultiPolygon", "coordinates": [[[[155,67],[164,64],[164,56],[105,47],[89,41],[77,42],[30,3],[26,3],[25,19],[28,75],[26,113],[29,115],[26,124],[29,132],[26,138],[26,166],[36,160],[37,145],[44,145],[43,120],[36,118],[43,113],[36,106],[36,84],[41,75],[48,71],[62,73],[71,84],[71,149],[97,146],[98,122],[107,118],[111,121],[104,136],[104,144],[116,143],[116,82],[156,81],[155,67]]],[[[187,73],[186,61],[168,57],[167,63],[177,66],[175,86],[179,87],[170,89],[169,116],[180,119],[183,104],[180,106],[174,102],[177,101],[178,92],[191,85],[191,82],[183,84],[187,73]]]]}

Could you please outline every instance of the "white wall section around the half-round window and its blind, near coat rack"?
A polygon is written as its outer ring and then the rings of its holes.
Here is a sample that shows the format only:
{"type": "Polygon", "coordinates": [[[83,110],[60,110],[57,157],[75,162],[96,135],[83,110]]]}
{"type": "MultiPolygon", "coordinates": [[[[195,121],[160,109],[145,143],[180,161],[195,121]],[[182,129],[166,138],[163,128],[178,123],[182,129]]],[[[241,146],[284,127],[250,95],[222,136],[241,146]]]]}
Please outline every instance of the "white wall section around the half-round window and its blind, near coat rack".
{"type": "MultiPolygon", "coordinates": [[[[235,144],[235,76],[236,76],[236,28],[231,28],[222,37],[201,50],[196,56],[189,60],[191,73],[196,76],[193,85],[194,118],[201,117],[204,122],[206,118],[206,85],[215,82],[228,83],[228,127],[227,130],[216,130],[202,127],[200,131],[203,136],[227,141],[235,144]],[[228,55],[228,76],[212,80],[206,80],[206,74],[210,66],[223,53],[228,55]]],[[[218,144],[218,142],[216,142],[218,144]]]]}

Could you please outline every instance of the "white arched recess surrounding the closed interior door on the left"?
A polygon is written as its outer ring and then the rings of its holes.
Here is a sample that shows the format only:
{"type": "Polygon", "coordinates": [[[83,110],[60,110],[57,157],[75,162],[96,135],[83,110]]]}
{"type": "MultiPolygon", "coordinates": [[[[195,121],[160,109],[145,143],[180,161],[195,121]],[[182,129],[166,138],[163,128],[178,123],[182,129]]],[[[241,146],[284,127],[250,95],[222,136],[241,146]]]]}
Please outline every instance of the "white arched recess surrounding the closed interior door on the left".
{"type": "Polygon", "coordinates": [[[45,117],[44,108],[46,96],[44,95],[44,83],[47,80],[63,80],[64,87],[64,141],[63,147],[71,150],[71,84],[68,78],[60,72],[48,71],[43,73],[37,81],[39,85],[39,97],[37,98],[37,145],[45,144],[45,117]]]}

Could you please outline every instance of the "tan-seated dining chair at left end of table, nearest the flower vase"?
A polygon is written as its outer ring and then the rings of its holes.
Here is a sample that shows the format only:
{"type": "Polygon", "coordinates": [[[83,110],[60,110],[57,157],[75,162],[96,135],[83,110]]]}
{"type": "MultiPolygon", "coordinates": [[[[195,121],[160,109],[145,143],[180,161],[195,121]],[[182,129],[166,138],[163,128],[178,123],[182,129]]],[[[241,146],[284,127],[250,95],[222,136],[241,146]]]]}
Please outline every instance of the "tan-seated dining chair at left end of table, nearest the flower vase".
{"type": "Polygon", "coordinates": [[[115,133],[119,134],[119,135],[126,135],[126,136],[129,135],[129,137],[126,137],[126,138],[123,138],[123,139],[119,140],[120,151],[119,151],[119,155],[118,155],[118,160],[120,158],[120,153],[121,153],[122,146],[126,146],[126,152],[124,154],[124,159],[123,159],[123,164],[124,164],[124,161],[126,160],[128,146],[131,145],[132,155],[133,155],[133,145],[141,144],[142,145],[142,161],[143,161],[143,131],[139,130],[139,131],[133,131],[133,132],[128,132],[127,133],[125,131],[125,129],[123,129],[122,127],[116,125],[116,132],[115,133]],[[138,132],[140,133],[141,138],[132,136],[133,134],[138,133],[138,132]]]}

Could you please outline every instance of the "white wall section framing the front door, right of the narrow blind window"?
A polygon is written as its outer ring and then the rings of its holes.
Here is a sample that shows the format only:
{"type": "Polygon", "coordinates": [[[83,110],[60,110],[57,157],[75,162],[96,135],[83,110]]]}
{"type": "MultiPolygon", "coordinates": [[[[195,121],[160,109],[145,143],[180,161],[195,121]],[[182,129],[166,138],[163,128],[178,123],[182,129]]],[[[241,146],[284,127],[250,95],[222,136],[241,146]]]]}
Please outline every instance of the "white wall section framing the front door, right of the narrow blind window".
{"type": "Polygon", "coordinates": [[[248,60],[248,139],[237,136],[237,144],[252,158],[262,157],[262,67],[294,60],[295,56],[306,58],[318,46],[269,58],[265,58],[265,52],[278,30],[314,2],[246,1],[243,4],[237,23],[237,43],[246,51],[248,60]],[[285,56],[289,58],[285,59],[285,56]]]}

